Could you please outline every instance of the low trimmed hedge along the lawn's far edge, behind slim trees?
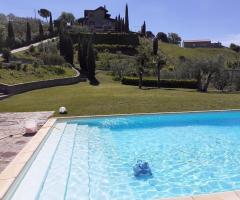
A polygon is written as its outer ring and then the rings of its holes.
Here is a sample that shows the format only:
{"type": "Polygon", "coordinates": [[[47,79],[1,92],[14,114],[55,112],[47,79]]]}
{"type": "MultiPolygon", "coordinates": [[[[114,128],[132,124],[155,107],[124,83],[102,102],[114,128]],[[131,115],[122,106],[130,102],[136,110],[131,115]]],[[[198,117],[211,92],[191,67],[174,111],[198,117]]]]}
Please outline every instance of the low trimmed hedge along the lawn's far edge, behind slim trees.
{"type": "MultiPolygon", "coordinates": [[[[122,84],[138,86],[139,79],[132,78],[132,77],[125,77],[122,79],[122,84]]],[[[157,87],[157,80],[143,79],[142,85],[145,87],[157,87]]],[[[165,88],[197,89],[198,84],[196,80],[162,79],[160,81],[160,86],[165,88]]]]}

